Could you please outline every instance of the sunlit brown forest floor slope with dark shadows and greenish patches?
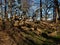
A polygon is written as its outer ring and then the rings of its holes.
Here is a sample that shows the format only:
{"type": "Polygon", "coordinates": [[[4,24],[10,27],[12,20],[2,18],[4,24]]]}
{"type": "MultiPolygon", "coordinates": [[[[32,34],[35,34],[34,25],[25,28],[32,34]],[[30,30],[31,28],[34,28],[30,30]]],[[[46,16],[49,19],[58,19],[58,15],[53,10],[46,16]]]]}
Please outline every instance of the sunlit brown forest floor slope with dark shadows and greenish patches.
{"type": "Polygon", "coordinates": [[[24,22],[0,30],[0,45],[60,45],[60,24],[24,22]]]}

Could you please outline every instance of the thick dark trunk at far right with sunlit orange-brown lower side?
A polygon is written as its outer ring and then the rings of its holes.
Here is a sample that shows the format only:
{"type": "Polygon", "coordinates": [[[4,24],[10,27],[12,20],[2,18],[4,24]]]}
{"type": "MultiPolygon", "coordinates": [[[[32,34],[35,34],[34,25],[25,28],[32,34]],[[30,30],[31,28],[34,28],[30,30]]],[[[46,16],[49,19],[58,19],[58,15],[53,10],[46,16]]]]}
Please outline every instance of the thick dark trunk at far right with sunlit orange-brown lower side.
{"type": "Polygon", "coordinates": [[[54,0],[54,15],[53,15],[53,20],[54,22],[58,22],[58,17],[59,17],[59,5],[58,5],[58,0],[54,0]]]}

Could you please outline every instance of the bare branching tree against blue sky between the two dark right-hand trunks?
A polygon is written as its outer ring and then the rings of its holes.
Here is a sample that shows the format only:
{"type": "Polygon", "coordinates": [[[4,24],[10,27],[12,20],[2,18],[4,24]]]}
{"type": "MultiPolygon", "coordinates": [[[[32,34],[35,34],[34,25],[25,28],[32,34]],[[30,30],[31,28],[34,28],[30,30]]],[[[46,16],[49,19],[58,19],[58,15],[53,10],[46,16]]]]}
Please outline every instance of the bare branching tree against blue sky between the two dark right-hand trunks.
{"type": "Polygon", "coordinates": [[[44,15],[44,20],[47,21],[47,19],[51,16],[52,14],[52,8],[53,8],[53,0],[44,0],[42,1],[42,14],[44,15]],[[50,13],[49,13],[50,12],[50,13]]]}

